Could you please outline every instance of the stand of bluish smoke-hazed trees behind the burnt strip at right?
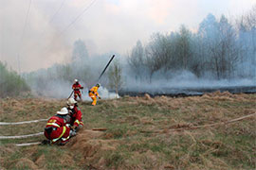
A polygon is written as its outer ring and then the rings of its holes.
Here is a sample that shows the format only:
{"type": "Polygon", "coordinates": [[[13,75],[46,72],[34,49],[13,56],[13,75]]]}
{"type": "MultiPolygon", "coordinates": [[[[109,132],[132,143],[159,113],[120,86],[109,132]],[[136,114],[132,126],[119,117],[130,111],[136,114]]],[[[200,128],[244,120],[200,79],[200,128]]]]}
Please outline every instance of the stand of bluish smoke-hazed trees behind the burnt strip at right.
{"type": "Polygon", "coordinates": [[[128,58],[137,79],[172,78],[178,71],[213,79],[256,77],[256,6],[230,24],[224,15],[209,14],[194,33],[186,26],[170,34],[155,33],[128,58]]]}

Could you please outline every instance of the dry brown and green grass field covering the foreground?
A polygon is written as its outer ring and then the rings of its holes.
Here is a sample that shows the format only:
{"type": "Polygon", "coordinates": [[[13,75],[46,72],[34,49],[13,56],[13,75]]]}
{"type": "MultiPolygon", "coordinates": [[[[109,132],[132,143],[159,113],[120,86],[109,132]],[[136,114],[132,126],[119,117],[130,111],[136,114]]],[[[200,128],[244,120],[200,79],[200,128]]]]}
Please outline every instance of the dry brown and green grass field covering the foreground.
{"type": "MultiPolygon", "coordinates": [[[[256,94],[207,93],[155,98],[125,96],[83,102],[85,126],[64,146],[14,144],[44,136],[0,141],[0,169],[255,169],[256,94]],[[199,127],[218,124],[212,127],[199,127]],[[93,128],[107,128],[105,131],[93,128]]],[[[0,122],[44,119],[64,100],[0,100],[0,122]]],[[[43,131],[46,122],[0,126],[0,136],[43,131]]]]}

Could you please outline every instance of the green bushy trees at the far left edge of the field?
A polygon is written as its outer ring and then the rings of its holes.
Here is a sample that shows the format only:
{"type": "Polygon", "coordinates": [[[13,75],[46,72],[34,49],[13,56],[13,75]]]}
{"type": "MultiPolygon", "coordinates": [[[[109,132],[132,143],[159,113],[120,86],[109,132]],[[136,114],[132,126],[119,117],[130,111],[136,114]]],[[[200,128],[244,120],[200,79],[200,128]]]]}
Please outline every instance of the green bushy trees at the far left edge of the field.
{"type": "Polygon", "coordinates": [[[0,97],[18,96],[29,91],[25,79],[9,70],[7,65],[0,61],[0,97]]]}

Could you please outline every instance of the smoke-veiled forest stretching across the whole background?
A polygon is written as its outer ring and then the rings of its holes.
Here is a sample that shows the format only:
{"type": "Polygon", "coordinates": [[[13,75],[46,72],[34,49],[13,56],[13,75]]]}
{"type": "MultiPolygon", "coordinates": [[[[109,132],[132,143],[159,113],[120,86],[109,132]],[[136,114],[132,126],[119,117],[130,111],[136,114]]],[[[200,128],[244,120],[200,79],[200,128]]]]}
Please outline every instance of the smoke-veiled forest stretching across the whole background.
{"type": "MultiPolygon", "coordinates": [[[[85,43],[78,40],[74,42],[68,64],[55,63],[47,69],[21,76],[11,70],[1,71],[1,96],[16,95],[9,92],[13,89],[15,92],[27,91],[30,87],[39,95],[64,97],[70,93],[74,78],[89,88],[97,82],[113,54],[115,52],[89,56],[85,43]],[[16,82],[10,82],[9,77],[16,82]],[[9,85],[15,86],[20,82],[22,85],[19,87],[23,88],[11,88],[9,85]]],[[[249,79],[249,83],[255,84],[256,7],[232,20],[224,15],[216,18],[209,14],[195,32],[183,25],[174,32],[154,33],[149,42],[138,40],[128,54],[116,53],[116,56],[101,78],[101,84],[116,93],[121,88],[136,88],[155,82],[166,84],[172,79],[187,82],[249,79]]],[[[5,64],[1,62],[1,65],[7,70],[5,64]]]]}

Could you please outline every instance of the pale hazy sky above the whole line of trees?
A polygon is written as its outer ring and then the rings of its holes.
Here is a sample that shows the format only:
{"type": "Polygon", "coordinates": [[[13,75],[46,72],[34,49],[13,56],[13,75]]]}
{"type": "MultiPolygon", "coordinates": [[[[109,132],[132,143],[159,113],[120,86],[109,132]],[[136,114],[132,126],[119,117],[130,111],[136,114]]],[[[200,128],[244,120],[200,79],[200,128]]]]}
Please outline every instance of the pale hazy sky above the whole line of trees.
{"type": "Polygon", "coordinates": [[[0,0],[0,60],[21,72],[68,63],[73,43],[89,55],[125,55],[155,32],[196,31],[212,13],[236,18],[256,0],[0,0]]]}

